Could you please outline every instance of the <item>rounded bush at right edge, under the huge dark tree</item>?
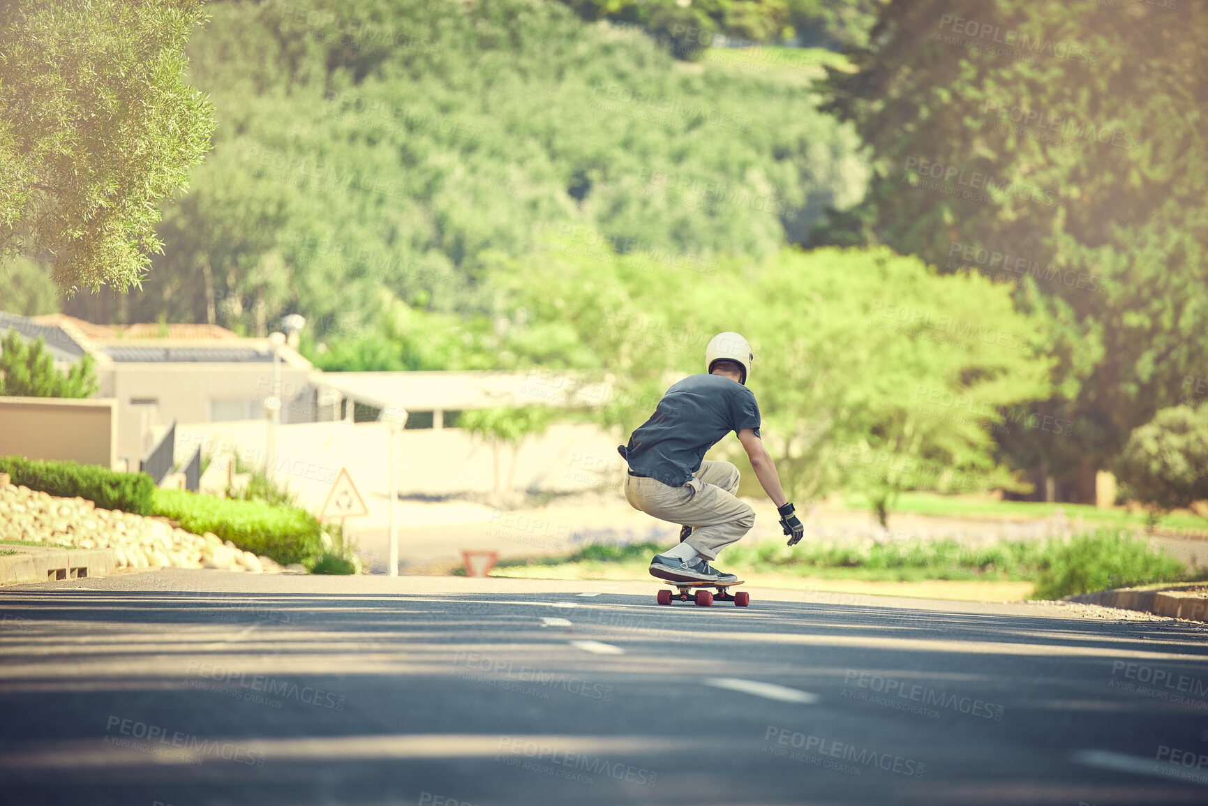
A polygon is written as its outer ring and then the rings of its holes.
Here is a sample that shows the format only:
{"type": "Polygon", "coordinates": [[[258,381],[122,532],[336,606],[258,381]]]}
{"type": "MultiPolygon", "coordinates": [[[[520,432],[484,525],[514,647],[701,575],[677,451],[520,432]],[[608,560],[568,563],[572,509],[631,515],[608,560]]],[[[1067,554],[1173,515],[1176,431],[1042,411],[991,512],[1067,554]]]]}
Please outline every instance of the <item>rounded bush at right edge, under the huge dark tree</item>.
{"type": "Polygon", "coordinates": [[[1133,429],[1115,466],[1121,493],[1162,512],[1208,500],[1208,405],[1163,408],[1133,429]]]}

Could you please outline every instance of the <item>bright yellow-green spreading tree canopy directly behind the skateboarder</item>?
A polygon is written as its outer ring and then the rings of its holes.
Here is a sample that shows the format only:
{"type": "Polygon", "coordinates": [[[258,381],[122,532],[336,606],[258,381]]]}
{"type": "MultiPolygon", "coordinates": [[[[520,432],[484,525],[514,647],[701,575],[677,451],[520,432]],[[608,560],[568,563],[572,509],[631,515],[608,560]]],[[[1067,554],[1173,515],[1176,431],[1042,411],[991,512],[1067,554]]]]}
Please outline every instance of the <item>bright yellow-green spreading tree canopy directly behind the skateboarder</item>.
{"type": "Polygon", "coordinates": [[[1050,363],[1004,284],[884,248],[785,250],[701,277],[553,244],[504,274],[525,311],[506,343],[542,329],[542,364],[597,369],[614,390],[603,424],[635,428],[670,383],[704,371],[714,334],[737,330],[755,348],[750,387],[791,495],[859,489],[884,520],[902,489],[1027,488],[994,433],[1045,427],[1027,404],[1050,394],[1050,363]]]}

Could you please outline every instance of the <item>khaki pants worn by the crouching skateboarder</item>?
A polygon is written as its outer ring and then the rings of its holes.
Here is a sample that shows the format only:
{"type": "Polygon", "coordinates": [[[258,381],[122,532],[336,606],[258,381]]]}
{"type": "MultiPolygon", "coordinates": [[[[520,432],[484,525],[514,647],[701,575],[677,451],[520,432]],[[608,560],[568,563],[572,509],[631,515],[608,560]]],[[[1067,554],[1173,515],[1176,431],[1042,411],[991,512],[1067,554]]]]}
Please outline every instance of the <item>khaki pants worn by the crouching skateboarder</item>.
{"type": "Polygon", "coordinates": [[[736,543],[755,526],[755,510],[734,497],[738,468],[728,462],[701,463],[683,487],[655,479],[625,476],[625,498],[646,515],[697,527],[685,543],[697,553],[715,559],[718,552],[736,543]]]}

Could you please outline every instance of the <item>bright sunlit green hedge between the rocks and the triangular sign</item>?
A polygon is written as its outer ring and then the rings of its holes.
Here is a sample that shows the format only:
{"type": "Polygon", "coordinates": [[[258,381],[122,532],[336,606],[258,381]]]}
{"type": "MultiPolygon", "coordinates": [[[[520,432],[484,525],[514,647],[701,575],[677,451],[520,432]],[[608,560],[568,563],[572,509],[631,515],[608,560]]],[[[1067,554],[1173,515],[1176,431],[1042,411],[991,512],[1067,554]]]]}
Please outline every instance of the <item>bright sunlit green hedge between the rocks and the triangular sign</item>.
{"type": "Polygon", "coordinates": [[[187,532],[213,532],[244,551],[288,566],[309,566],[323,553],[323,527],[306,510],[202,495],[182,489],[156,489],[153,514],[187,532]]]}

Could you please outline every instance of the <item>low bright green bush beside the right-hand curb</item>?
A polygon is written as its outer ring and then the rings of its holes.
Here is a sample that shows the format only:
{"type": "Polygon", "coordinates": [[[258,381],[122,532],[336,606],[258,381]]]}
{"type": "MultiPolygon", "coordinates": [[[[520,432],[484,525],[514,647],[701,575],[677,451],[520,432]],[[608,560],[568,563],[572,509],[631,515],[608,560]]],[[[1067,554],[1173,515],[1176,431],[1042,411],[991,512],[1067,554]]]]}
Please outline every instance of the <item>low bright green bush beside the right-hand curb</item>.
{"type": "Polygon", "coordinates": [[[1154,551],[1127,532],[1098,529],[1068,543],[1046,546],[1033,598],[1056,599],[1071,593],[1129,587],[1186,578],[1181,562],[1154,551]]]}

